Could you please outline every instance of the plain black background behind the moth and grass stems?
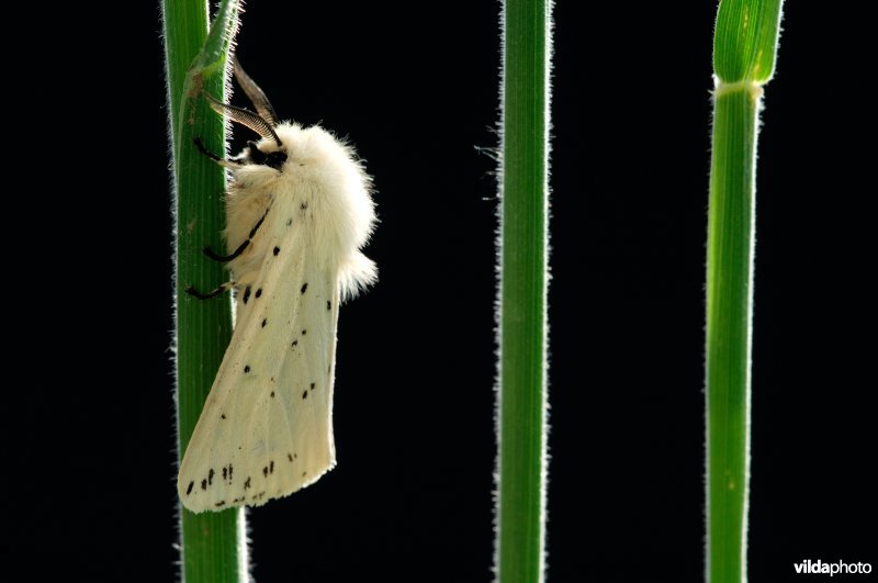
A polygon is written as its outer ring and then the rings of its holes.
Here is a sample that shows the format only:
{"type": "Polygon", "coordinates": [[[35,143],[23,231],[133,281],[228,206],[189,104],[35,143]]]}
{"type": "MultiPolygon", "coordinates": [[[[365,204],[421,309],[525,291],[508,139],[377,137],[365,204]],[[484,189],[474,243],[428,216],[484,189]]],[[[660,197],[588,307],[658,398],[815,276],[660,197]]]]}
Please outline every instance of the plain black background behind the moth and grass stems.
{"type": "MultiPolygon", "coordinates": [[[[161,25],[155,5],[126,10],[88,21],[57,71],[79,154],[40,177],[70,194],[53,218],[82,228],[52,242],[75,250],[52,256],[77,273],[49,304],[72,314],[49,335],[69,362],[38,370],[8,424],[9,482],[29,489],[7,498],[3,549],[34,580],[178,576],[161,25]]],[[[249,512],[259,582],[491,580],[498,11],[252,0],[244,14],[249,74],[282,117],[350,136],[381,218],[380,281],[340,317],[339,464],[249,512]]],[[[550,581],[702,578],[714,14],[555,9],[550,581]]],[[[878,563],[866,20],[789,2],[766,88],[752,581],[795,580],[803,559],[878,563]]]]}

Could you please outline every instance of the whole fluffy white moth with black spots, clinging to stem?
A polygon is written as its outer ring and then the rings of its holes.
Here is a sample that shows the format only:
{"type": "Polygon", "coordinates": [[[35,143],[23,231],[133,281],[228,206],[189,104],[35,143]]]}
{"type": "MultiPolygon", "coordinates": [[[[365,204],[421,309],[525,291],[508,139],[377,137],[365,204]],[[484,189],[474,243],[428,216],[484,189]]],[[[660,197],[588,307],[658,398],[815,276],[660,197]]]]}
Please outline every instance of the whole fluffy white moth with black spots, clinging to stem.
{"type": "Polygon", "coordinates": [[[235,158],[225,239],[236,291],[232,343],[180,464],[192,512],[258,506],[316,481],[336,462],[333,380],[338,305],[376,279],[360,248],[375,222],[370,179],[353,150],[319,126],[278,122],[235,61],[257,113],[212,106],[257,132],[235,158]]]}

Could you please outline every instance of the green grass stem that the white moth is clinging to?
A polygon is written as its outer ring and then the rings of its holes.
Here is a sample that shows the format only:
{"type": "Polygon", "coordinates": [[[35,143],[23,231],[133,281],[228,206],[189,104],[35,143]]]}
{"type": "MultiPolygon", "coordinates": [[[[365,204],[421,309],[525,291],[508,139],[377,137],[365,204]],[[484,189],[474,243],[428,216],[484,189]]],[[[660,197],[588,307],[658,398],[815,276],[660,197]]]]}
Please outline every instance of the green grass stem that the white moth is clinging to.
{"type": "MultiPolygon", "coordinates": [[[[203,88],[222,99],[229,40],[238,2],[226,0],[209,33],[203,0],[164,0],[162,22],[168,113],[173,171],[177,428],[179,455],[185,451],[216,370],[232,336],[227,300],[198,301],[183,290],[211,290],[228,277],[202,253],[224,248],[223,169],[193,145],[201,137],[212,152],[225,152],[225,124],[200,96],[203,88]]],[[[192,514],[181,507],[182,579],[187,583],[246,581],[244,513],[192,514]]]]}

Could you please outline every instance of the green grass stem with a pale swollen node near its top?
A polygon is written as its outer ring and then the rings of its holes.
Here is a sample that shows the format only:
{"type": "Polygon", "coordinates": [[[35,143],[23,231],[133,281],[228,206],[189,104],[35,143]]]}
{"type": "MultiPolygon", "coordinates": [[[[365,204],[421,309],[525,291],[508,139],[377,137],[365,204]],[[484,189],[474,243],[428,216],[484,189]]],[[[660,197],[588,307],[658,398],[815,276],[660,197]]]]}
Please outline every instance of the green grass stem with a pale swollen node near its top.
{"type": "Polygon", "coordinates": [[[707,567],[746,581],[755,176],[763,85],[781,0],[722,0],[713,46],[707,258],[707,567]]]}

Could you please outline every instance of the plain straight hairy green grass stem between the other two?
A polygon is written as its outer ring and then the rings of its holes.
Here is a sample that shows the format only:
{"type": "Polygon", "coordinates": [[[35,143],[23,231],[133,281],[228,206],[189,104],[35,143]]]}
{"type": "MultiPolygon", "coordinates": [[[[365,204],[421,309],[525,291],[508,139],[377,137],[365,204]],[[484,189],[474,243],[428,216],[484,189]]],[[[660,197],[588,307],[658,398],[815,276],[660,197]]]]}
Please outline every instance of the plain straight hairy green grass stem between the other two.
{"type": "Polygon", "coordinates": [[[543,580],[551,2],[503,8],[498,498],[502,583],[543,580]]]}

